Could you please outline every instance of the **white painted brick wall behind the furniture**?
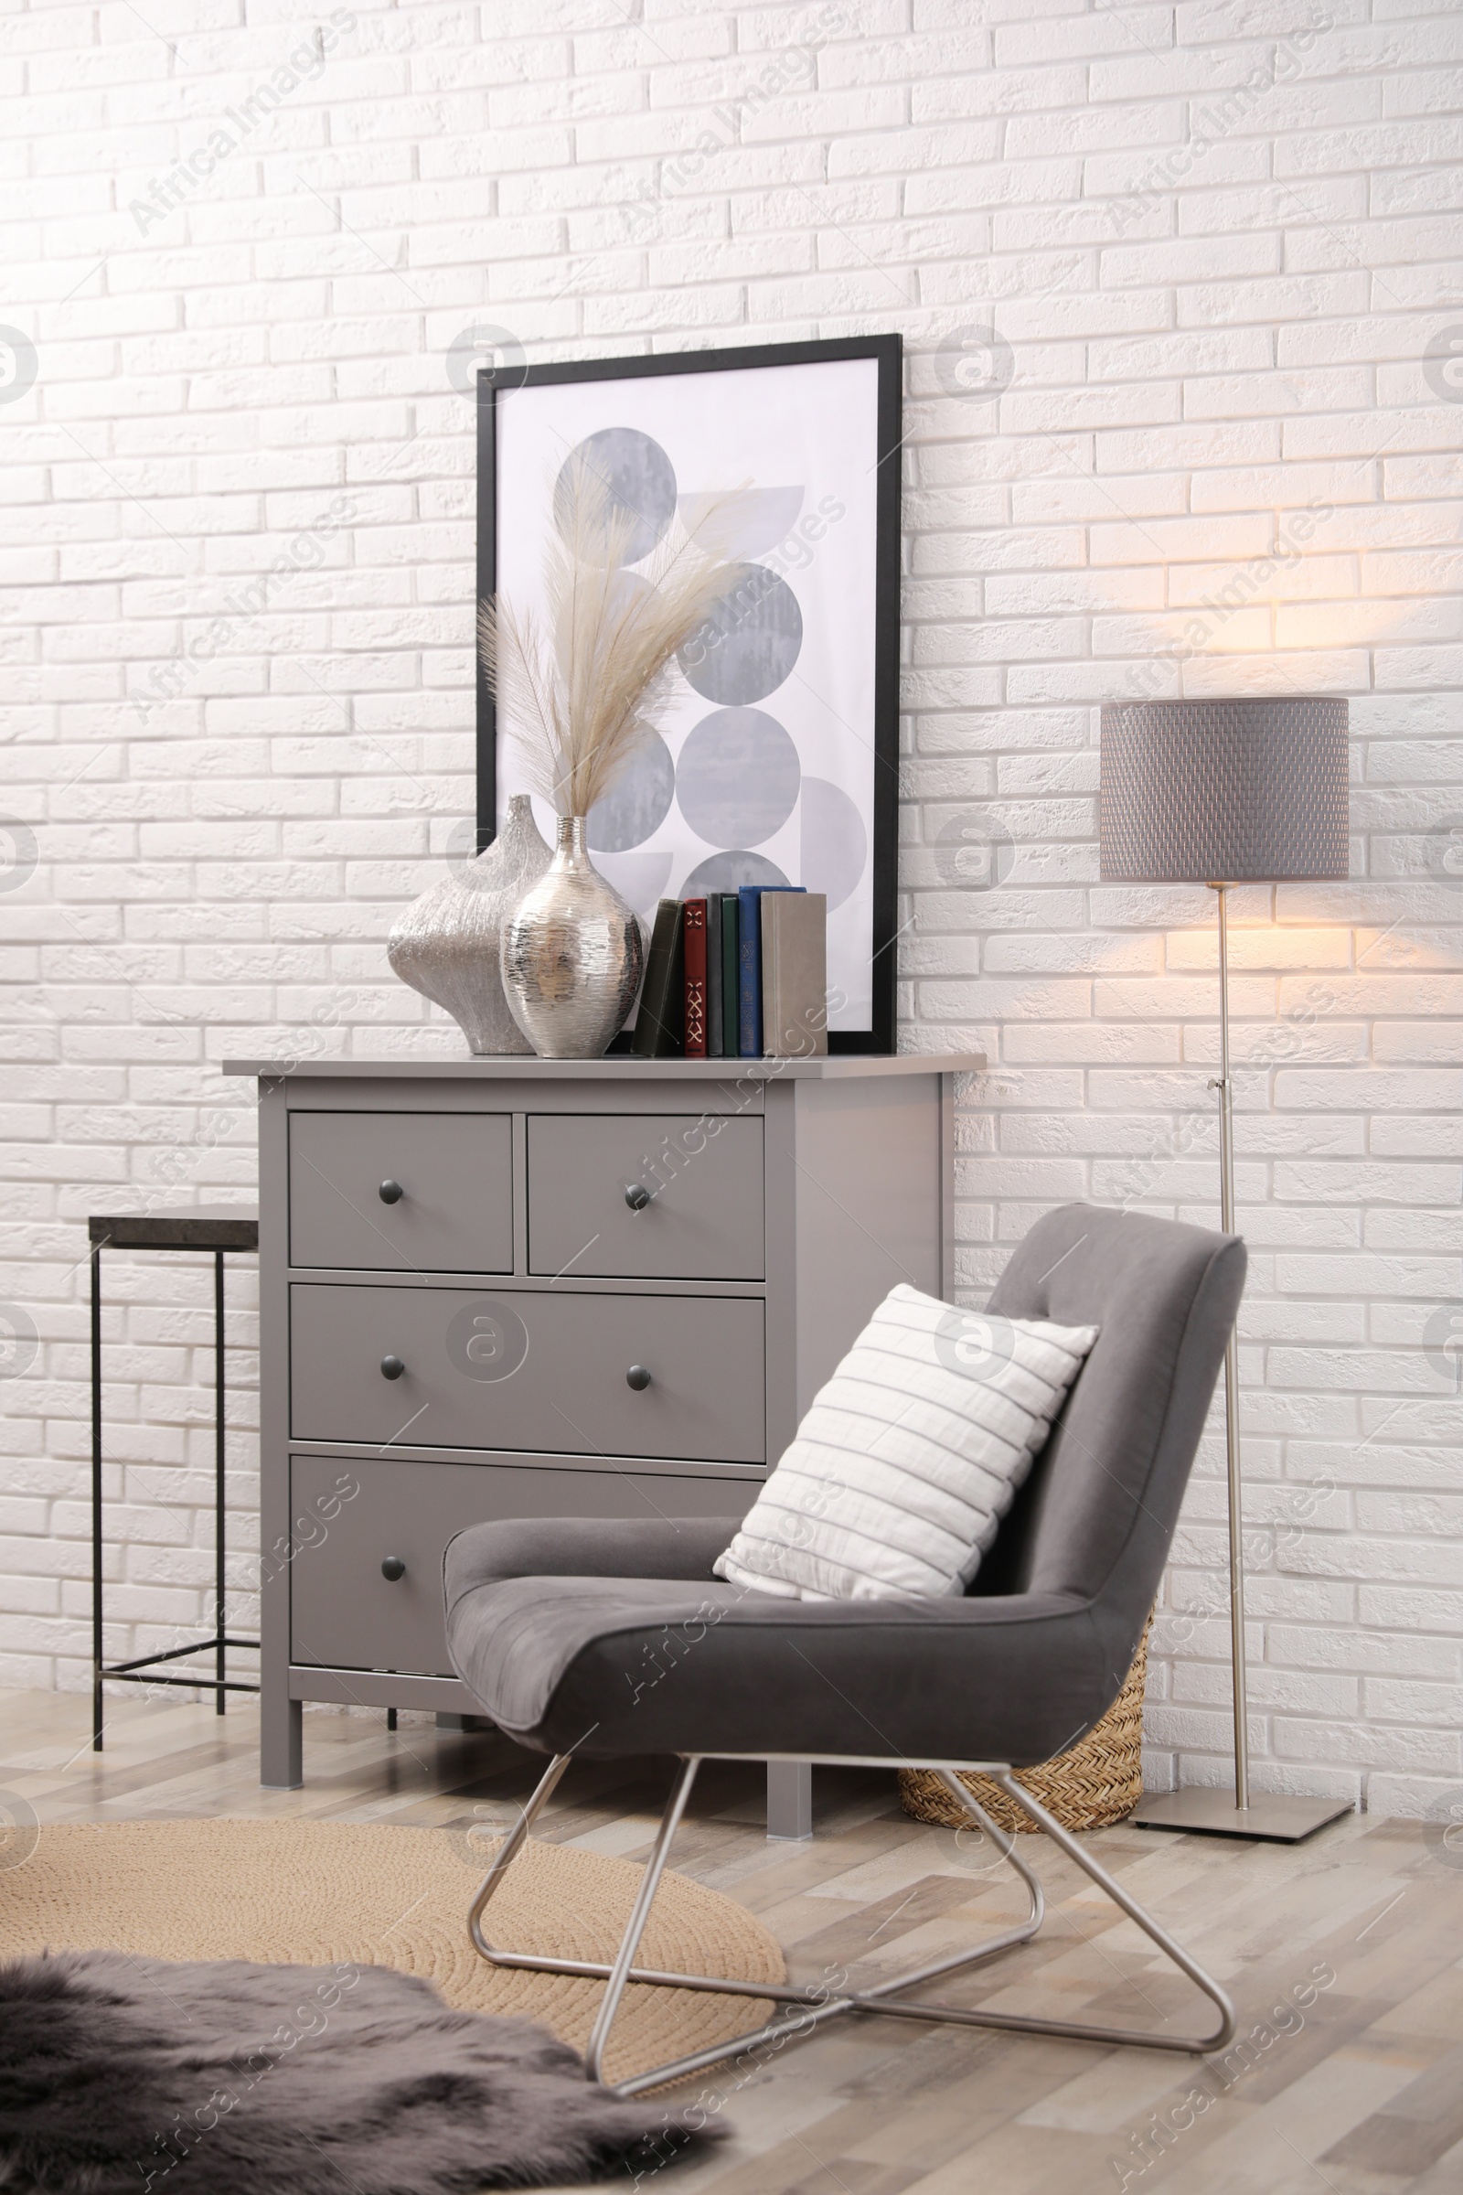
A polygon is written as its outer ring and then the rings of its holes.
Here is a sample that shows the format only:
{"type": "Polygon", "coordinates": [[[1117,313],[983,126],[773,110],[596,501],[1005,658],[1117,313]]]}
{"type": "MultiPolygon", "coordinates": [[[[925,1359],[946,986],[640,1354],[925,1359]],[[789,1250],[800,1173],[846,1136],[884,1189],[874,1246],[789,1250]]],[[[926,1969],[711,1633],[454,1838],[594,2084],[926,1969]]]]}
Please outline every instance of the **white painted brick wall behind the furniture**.
{"type": "MultiPolygon", "coordinates": [[[[1456,1796],[1463,389],[1426,367],[1463,340],[1456,4],[145,15],[0,18],[0,320],[37,356],[0,404],[0,803],[37,847],[0,902],[0,1291],[39,1337],[4,1389],[0,1677],[86,1681],[86,1214],[248,1196],[226,1054],[456,1049],[382,950],[472,806],[447,345],[897,327],[904,1043],[994,1062],[972,1295],[1070,1196],[1215,1218],[1213,915],[1097,882],[1097,705],[1351,696],[1356,882],[1235,907],[1257,1782],[1456,1796]],[[972,327],[1009,345],[991,402],[941,384],[972,327]],[[1009,838],[998,889],[950,865],[969,830],[1009,838]]],[[[206,1271],[116,1262],[110,1295],[136,1651],[206,1602],[206,1271]]],[[[241,1550],[250,1425],[239,1392],[241,1550]]],[[[1211,1438],[1160,1778],[1224,1774],[1222,1550],[1211,1438]]]]}

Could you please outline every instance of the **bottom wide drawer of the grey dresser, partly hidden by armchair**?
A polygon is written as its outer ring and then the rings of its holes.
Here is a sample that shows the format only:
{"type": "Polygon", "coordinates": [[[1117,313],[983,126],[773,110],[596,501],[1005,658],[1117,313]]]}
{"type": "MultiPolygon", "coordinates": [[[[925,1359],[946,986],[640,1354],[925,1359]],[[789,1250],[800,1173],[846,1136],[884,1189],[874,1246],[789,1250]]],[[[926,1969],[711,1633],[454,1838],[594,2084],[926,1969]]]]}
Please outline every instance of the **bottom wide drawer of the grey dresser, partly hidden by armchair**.
{"type": "Polygon", "coordinates": [[[450,1677],[441,1561],[454,1532],[494,1517],[726,1517],[730,1539],[755,1493],[748,1479],[296,1455],[290,1659],[450,1677]],[[382,1563],[406,1567],[388,1580],[382,1563]]]}

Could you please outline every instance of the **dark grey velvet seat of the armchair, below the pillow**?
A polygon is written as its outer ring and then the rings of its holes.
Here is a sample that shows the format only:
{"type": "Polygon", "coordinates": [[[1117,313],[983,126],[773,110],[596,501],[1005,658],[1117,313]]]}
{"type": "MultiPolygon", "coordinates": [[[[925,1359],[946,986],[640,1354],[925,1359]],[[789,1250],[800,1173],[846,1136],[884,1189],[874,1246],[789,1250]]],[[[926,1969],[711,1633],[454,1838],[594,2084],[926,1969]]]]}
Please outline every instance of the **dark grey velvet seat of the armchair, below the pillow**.
{"type": "Polygon", "coordinates": [[[733,1519],[518,1519],[447,1547],[447,1644],[540,1752],[1046,1760],[1134,1640],[1070,1596],[781,1600],[711,1576],[733,1519]],[[621,1565],[621,1574],[616,1574],[621,1565]],[[680,1574],[678,1574],[680,1572],[680,1574]]]}

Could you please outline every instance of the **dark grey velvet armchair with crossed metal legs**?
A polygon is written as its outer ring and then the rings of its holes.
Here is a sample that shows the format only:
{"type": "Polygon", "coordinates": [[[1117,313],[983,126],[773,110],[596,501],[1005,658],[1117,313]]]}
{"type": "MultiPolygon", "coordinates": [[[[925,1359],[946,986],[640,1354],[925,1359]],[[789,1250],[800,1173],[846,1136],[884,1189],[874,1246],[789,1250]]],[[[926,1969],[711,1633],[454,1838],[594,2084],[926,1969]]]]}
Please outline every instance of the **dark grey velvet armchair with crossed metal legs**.
{"type": "Polygon", "coordinates": [[[1143,1912],[1095,1855],[1011,1776],[1064,1752],[1112,1706],[1154,1605],[1193,1453],[1239,1308],[1235,1236],[1066,1205],[1011,1256],[989,1308],[1095,1324],[1099,1339],[969,1594],[956,1600],[783,1600],[715,1578],[735,1519],[524,1519],[474,1526],[447,1547],[447,1642],[483,1712],[551,1754],[515,1831],[474,1899],[469,1932],[500,1967],[603,1975],[586,2050],[599,2079],[627,1982],[770,1997],[785,2011],[755,2035],[658,2065],[621,2094],[695,2072],[763,2039],[842,2013],[882,2013],[1138,2044],[1220,2050],[1235,2015],[1224,1991],[1143,1912]],[[575,1754],[678,1754],[680,1774],[612,1965],[504,1951],[485,1907],[575,1754]],[[671,1837],[704,1758],[928,1767],[1002,1850],[1029,1912],[1002,1934],[869,1991],[827,1997],[634,1965],[671,1837]],[[974,1802],[959,1769],[983,1769],[1213,2000],[1220,2026],[1191,2037],[1086,2026],[904,1993],[1027,1943],[1042,1888],[974,1802]]]}

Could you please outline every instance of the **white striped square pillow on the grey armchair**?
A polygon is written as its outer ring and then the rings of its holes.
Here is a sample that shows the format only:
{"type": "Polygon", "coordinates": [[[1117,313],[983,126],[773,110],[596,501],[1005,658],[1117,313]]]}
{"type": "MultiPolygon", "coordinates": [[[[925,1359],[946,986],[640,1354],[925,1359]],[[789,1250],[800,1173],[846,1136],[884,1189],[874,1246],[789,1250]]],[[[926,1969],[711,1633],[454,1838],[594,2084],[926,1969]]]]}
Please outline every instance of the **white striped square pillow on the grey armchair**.
{"type": "Polygon", "coordinates": [[[1095,1341],[893,1288],[717,1576],[803,1600],[963,1594],[1095,1341]]]}

